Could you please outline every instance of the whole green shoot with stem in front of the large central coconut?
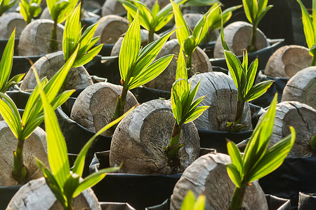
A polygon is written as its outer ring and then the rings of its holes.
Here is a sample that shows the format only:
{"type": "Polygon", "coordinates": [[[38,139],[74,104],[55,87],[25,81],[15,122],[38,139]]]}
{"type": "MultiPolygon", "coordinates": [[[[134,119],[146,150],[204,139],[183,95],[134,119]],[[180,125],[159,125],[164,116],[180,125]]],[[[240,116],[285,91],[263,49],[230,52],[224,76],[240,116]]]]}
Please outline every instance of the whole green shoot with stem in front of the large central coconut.
{"type": "Polygon", "coordinates": [[[176,122],[173,125],[169,146],[166,146],[165,151],[169,160],[176,157],[177,152],[183,144],[180,144],[180,133],[183,124],[190,123],[197,119],[209,106],[199,106],[199,103],[206,96],[195,99],[199,83],[190,91],[191,84],[187,83],[187,69],[185,67],[185,57],[183,50],[180,49],[178,57],[178,65],[176,71],[176,81],[171,88],[171,106],[176,122]],[[194,100],[195,99],[195,100],[194,100]]]}

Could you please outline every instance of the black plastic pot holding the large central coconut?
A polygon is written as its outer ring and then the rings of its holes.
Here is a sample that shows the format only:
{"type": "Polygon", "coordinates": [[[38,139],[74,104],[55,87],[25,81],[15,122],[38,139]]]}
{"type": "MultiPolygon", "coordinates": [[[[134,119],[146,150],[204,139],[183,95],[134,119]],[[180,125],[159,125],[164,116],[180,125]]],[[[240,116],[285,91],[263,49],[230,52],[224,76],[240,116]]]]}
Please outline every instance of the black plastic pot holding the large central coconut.
{"type": "MultiPolygon", "coordinates": [[[[202,149],[200,155],[212,151],[202,149]]],[[[110,167],[109,155],[110,151],[96,153],[91,172],[110,167]]],[[[135,209],[145,209],[169,198],[181,175],[107,174],[92,189],[100,201],[127,202],[135,209]]]]}

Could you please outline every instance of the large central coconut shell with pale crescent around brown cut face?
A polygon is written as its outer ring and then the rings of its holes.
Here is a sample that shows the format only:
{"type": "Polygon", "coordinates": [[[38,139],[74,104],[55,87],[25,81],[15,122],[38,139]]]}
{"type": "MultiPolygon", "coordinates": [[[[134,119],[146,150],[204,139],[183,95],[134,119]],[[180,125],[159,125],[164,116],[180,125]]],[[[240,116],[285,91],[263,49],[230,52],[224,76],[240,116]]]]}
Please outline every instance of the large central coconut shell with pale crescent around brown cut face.
{"type": "Polygon", "coordinates": [[[169,145],[175,118],[171,102],[156,99],[136,107],[117,126],[112,138],[110,166],[123,162],[120,173],[177,174],[199,157],[199,134],[193,123],[183,125],[177,157],[170,161],[169,145]]]}

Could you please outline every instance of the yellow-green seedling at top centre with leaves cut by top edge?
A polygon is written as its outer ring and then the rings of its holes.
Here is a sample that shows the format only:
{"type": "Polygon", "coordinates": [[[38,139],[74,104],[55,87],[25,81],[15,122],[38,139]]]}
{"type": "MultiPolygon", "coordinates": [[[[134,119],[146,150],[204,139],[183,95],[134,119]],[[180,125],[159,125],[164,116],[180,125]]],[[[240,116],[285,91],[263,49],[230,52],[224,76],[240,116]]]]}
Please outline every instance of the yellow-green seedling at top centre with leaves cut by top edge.
{"type": "MultiPolygon", "coordinates": [[[[152,10],[140,1],[125,1],[117,0],[121,2],[126,10],[134,18],[137,10],[140,13],[140,25],[148,31],[148,43],[154,41],[154,32],[159,31],[164,27],[172,18],[173,10],[171,3],[167,4],[160,10],[158,1],[155,1],[152,10]]],[[[187,0],[176,0],[174,3],[180,5],[187,0]]]]}

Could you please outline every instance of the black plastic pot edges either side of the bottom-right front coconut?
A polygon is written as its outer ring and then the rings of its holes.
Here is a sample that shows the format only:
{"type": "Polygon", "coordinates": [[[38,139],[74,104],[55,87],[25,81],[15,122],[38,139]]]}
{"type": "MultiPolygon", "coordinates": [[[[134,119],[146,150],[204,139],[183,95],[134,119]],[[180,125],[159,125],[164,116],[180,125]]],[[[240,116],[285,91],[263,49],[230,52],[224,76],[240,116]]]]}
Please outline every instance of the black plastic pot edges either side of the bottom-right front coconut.
{"type": "MultiPolygon", "coordinates": [[[[282,199],[280,197],[275,197],[273,195],[265,195],[265,199],[268,202],[268,210],[290,210],[291,204],[289,200],[282,199]]],[[[169,210],[170,209],[170,199],[165,200],[162,204],[154,207],[147,207],[146,210],[169,210]]]]}

